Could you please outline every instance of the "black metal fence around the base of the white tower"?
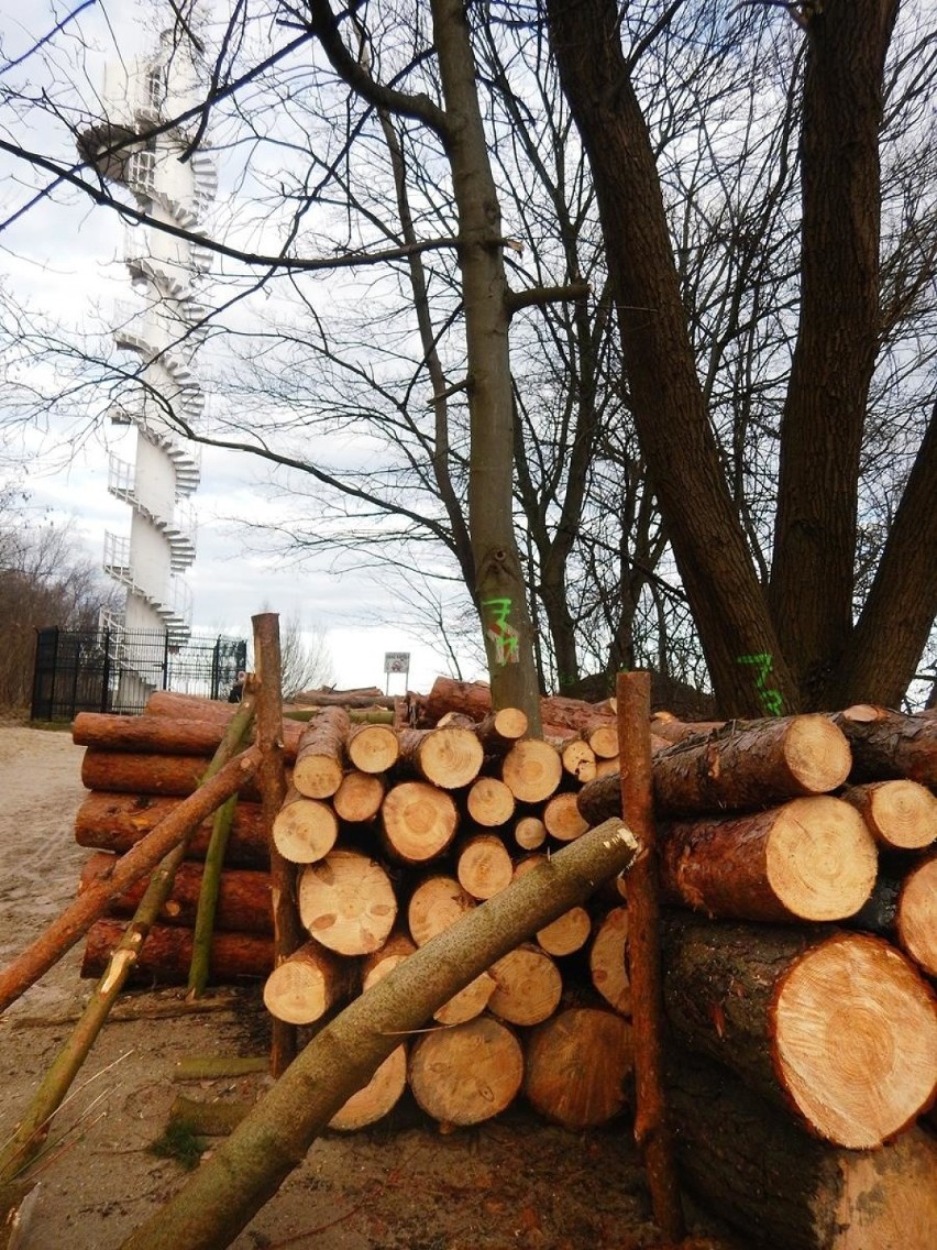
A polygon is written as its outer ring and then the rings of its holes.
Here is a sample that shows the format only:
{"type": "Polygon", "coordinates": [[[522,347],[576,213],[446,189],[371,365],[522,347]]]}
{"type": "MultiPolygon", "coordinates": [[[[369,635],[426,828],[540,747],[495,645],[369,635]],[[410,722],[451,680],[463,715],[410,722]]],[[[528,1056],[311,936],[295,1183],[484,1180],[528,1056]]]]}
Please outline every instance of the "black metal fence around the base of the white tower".
{"type": "Polygon", "coordinates": [[[37,630],[34,720],[72,720],[80,711],[141,712],[154,690],[226,699],[246,668],[244,639],[165,631],[37,630]]]}

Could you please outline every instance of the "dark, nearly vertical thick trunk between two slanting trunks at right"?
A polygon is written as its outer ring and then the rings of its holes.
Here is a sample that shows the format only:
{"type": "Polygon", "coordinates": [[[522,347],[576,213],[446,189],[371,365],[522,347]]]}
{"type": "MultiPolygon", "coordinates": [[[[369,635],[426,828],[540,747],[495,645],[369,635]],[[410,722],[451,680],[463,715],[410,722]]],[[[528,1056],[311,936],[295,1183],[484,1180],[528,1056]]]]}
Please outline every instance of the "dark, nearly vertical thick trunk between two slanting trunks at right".
{"type": "Polygon", "coordinates": [[[860,451],[880,332],[882,76],[897,11],[898,0],[805,11],[801,315],[770,584],[805,708],[830,706],[827,681],[852,632],[860,451]]]}

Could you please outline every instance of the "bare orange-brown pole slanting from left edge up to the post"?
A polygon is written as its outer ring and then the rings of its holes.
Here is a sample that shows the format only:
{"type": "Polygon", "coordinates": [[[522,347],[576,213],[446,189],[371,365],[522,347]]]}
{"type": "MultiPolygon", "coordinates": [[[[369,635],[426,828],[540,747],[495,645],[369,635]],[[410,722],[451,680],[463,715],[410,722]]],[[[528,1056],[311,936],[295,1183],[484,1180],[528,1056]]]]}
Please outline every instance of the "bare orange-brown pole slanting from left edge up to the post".
{"type": "Polygon", "coordinates": [[[260,752],[251,746],[195,794],[185,799],[132,850],[121,856],[114,872],[100,885],[91,886],[59,916],[21,955],[0,972],[0,1011],[47,972],[91,928],[119,894],[152,872],[156,865],[206,816],[235,794],[257,771],[260,752]]]}

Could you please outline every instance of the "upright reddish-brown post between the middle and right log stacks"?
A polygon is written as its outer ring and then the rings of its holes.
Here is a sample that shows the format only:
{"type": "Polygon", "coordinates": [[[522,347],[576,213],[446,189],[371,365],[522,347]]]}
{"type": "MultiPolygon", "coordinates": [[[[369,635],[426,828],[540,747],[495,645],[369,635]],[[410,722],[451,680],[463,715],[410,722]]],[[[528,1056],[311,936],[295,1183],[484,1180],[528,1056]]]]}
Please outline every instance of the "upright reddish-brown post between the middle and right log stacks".
{"type": "Polygon", "coordinates": [[[635,1139],[643,1156],[653,1216],[670,1241],[685,1235],[673,1142],[663,1096],[663,995],[651,772],[651,675],[620,672],[621,810],[642,852],[625,881],[635,1039],[635,1139]]]}

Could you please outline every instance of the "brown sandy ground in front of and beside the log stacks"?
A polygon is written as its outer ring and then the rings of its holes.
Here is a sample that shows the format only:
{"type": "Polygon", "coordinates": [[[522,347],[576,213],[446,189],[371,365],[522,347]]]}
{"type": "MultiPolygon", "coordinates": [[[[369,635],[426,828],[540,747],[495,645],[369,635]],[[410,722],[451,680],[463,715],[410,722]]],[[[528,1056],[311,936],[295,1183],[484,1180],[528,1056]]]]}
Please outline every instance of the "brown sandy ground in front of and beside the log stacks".
{"type": "MultiPolygon", "coordinates": [[[[0,726],[0,964],[24,949],[74,898],[89,854],[72,822],[85,794],[82,749],[67,732],[0,726]]],[[[81,944],[0,1019],[0,1140],[69,1035],[89,982],[81,944]]],[[[121,1000],[131,1019],[109,1024],[75,1094],[59,1112],[17,1250],[116,1250],[131,1229],[185,1181],[150,1146],[172,1100],[242,1100],[265,1076],[180,1086],[181,1058],[262,1052],[266,1021],[256,988],[222,1012],[140,1018],[177,1005],[174,990],[121,1000]],[[136,1019],[134,1019],[136,1015],[136,1019]]],[[[693,1216],[698,1250],[738,1250],[693,1216]]],[[[2,1238],[0,1236],[0,1242],[2,1238]]],[[[442,1136],[402,1102],[367,1132],[320,1139],[276,1198],[232,1242],[235,1250],[648,1250],[643,1175],[628,1125],[571,1134],[522,1106],[475,1130],[442,1136]]],[[[185,1250],[180,1245],[179,1250],[185,1250]]]]}

